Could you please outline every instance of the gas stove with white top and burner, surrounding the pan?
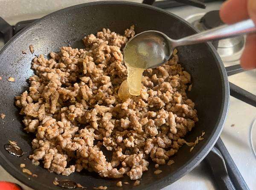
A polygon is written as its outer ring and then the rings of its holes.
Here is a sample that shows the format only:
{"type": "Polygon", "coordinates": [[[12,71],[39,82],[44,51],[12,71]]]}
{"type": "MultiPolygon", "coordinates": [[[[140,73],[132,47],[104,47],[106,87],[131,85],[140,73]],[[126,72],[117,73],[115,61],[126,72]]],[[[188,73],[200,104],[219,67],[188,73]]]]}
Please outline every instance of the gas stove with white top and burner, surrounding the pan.
{"type": "MultiPolygon", "coordinates": [[[[96,0],[33,0],[33,2],[31,0],[0,0],[0,17],[15,26],[9,28],[10,32],[15,34],[28,23],[31,23],[27,20],[40,18],[52,11],[68,6],[92,1],[96,0]]],[[[143,2],[143,0],[129,1],[143,2]]],[[[153,6],[182,17],[199,31],[222,24],[218,17],[218,10],[223,1],[177,0],[176,2],[176,0],[164,0],[155,2],[154,0],[144,0],[144,3],[153,4],[153,6]]],[[[6,34],[6,39],[12,34],[6,34]]],[[[214,150],[207,156],[207,159],[189,174],[163,188],[163,190],[218,190],[220,189],[216,182],[218,178],[222,178],[224,186],[228,190],[234,188],[238,190],[256,190],[256,180],[254,180],[256,176],[256,96],[253,95],[256,94],[256,72],[255,70],[243,71],[239,66],[244,42],[244,36],[212,42],[229,75],[231,97],[227,121],[221,133],[221,138],[216,143],[214,150]],[[210,169],[208,162],[218,164],[217,169],[210,169]],[[218,176],[218,174],[221,174],[221,176],[218,176]],[[231,179],[234,188],[227,183],[226,178],[231,179]]],[[[4,39],[0,38],[0,48],[3,44],[4,39]]],[[[24,190],[32,190],[0,167],[0,181],[2,180],[20,184],[24,190]]]]}

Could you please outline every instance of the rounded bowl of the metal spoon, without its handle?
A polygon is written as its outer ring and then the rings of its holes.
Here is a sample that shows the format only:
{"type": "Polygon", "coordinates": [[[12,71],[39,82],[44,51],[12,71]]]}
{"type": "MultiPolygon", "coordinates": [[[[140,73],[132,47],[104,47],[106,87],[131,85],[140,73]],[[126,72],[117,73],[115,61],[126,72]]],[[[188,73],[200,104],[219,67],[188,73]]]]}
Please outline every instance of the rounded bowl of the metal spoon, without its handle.
{"type": "Polygon", "coordinates": [[[166,34],[144,31],[125,45],[124,61],[137,68],[154,68],[168,61],[172,51],[172,41],[166,34]]]}

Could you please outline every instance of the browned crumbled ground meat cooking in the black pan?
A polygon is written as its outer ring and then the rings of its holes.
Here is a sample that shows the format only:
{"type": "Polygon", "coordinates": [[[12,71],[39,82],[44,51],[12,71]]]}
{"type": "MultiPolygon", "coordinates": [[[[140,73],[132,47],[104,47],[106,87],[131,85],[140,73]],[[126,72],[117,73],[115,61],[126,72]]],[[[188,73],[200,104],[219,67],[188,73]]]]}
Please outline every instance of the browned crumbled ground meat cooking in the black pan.
{"type": "Polygon", "coordinates": [[[140,96],[124,102],[119,98],[118,89],[127,78],[122,50],[134,34],[134,26],[123,36],[103,28],[84,37],[83,49],[61,47],[50,59],[33,59],[29,91],[15,102],[24,116],[24,130],[35,133],[32,163],[42,162],[50,172],[65,176],[88,170],[138,180],[149,161],[156,168],[172,164],[178,149],[191,144],[183,137],[198,117],[186,95],[191,76],[177,63],[177,50],[165,64],[144,71],[140,96]],[[105,150],[111,151],[111,159],[105,150]]]}

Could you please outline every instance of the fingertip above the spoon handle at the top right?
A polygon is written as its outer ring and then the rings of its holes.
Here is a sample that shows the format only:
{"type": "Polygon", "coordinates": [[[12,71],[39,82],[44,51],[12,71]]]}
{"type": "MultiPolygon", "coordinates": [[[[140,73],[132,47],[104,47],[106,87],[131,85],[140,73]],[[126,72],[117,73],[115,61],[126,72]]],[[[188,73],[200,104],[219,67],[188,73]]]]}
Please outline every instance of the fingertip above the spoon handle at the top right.
{"type": "MultiPolygon", "coordinates": [[[[220,17],[224,23],[232,24],[249,18],[247,11],[248,0],[227,0],[220,9],[220,17]]],[[[255,0],[251,0],[255,1],[255,0]]]]}

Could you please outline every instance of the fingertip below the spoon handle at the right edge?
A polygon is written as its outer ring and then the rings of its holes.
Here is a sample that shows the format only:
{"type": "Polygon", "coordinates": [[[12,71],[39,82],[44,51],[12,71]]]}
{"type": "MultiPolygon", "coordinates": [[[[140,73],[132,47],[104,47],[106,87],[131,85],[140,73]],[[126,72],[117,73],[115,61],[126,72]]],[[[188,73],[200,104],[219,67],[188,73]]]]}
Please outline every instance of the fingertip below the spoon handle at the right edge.
{"type": "Polygon", "coordinates": [[[241,66],[245,69],[256,68],[256,34],[250,34],[246,38],[244,52],[241,56],[241,66]]]}

